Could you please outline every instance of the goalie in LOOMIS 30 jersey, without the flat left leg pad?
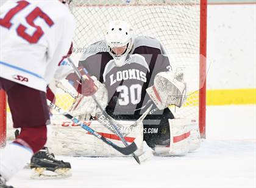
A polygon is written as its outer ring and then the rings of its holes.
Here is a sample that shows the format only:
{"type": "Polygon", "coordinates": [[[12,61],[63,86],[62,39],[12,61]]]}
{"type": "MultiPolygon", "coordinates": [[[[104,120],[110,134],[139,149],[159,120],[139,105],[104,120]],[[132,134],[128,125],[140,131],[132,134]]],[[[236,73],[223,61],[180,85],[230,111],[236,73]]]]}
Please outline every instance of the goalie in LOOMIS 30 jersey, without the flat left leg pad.
{"type": "MultiPolygon", "coordinates": [[[[109,52],[85,52],[79,67],[97,79],[96,96],[108,115],[116,120],[136,121],[154,104],[154,111],[143,121],[143,139],[148,146],[160,155],[184,155],[192,150],[188,127],[192,124],[196,127],[196,123],[191,119],[174,119],[168,108],[169,105],[181,107],[185,101],[183,73],[171,69],[162,44],[154,38],[135,37],[129,24],[113,21],[105,32],[105,40],[91,44],[88,49],[106,47],[109,52]],[[152,132],[154,129],[158,131],[152,132]]],[[[78,78],[73,73],[67,79],[76,83],[78,78]]],[[[80,119],[101,115],[91,97],[81,96],[71,110],[80,119]]]]}

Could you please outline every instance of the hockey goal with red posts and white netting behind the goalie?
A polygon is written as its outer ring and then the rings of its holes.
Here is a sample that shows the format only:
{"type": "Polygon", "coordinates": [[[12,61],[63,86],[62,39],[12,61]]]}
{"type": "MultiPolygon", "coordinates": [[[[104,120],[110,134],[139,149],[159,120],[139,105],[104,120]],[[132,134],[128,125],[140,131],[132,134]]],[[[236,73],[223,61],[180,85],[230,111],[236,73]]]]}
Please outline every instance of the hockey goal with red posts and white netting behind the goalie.
{"type": "MultiPolygon", "coordinates": [[[[72,55],[76,61],[88,45],[104,39],[106,25],[115,19],[130,22],[137,36],[158,39],[172,69],[185,73],[188,87],[187,102],[171,110],[176,117],[197,119],[205,138],[207,0],[73,0],[71,11],[77,21],[72,55]]],[[[0,140],[5,143],[12,119],[5,93],[0,96],[0,140]]],[[[57,92],[58,106],[68,110],[72,101],[68,94],[57,92]]]]}

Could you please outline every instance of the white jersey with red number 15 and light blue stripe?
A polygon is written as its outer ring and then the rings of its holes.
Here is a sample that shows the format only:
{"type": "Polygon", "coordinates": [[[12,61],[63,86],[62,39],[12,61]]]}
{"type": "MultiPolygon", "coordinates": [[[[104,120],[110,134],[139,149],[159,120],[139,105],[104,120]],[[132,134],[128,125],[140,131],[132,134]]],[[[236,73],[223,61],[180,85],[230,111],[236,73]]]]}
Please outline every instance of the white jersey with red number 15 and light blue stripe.
{"type": "Polygon", "coordinates": [[[74,29],[74,16],[58,0],[7,1],[0,12],[0,77],[45,92],[74,29]]]}

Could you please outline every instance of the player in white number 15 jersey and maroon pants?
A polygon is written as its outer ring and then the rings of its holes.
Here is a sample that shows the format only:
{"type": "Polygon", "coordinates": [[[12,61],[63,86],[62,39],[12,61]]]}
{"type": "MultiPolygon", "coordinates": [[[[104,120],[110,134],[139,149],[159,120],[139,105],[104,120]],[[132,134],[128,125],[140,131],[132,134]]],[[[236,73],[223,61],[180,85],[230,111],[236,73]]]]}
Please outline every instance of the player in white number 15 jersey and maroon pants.
{"type": "Polygon", "coordinates": [[[7,1],[1,7],[0,89],[7,93],[13,127],[21,128],[1,150],[1,188],[12,187],[5,181],[46,143],[46,86],[68,53],[75,29],[68,2],[7,1]]]}

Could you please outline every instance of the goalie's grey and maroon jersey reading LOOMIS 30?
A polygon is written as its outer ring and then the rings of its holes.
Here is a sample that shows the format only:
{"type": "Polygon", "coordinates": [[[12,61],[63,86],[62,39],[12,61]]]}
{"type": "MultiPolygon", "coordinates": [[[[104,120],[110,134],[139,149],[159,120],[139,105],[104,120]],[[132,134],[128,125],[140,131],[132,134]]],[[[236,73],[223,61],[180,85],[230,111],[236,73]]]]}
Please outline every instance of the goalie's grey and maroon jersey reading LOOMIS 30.
{"type": "Polygon", "coordinates": [[[91,76],[105,84],[108,90],[107,111],[115,115],[132,115],[149,100],[146,89],[154,84],[155,75],[171,69],[168,56],[157,39],[135,38],[126,64],[116,66],[107,52],[105,41],[87,48],[79,61],[91,76]]]}

